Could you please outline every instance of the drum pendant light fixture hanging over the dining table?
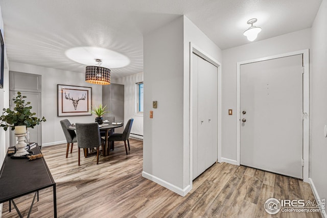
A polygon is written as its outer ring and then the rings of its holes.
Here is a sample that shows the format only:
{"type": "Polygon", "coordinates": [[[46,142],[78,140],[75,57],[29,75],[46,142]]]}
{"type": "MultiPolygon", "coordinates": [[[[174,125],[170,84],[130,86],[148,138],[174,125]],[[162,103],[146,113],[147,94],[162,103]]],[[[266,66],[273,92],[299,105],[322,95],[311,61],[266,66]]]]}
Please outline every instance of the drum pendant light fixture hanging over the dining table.
{"type": "Polygon", "coordinates": [[[110,69],[101,67],[101,59],[95,59],[98,66],[87,66],[85,69],[85,82],[99,85],[110,84],[110,69]]]}

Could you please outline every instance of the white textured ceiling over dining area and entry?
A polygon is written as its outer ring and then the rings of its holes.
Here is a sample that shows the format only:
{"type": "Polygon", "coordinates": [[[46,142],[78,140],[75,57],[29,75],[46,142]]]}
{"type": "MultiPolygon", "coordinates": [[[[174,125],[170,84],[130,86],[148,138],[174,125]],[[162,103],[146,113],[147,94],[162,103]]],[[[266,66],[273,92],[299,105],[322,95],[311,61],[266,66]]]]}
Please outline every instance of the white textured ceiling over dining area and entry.
{"type": "Polygon", "coordinates": [[[186,15],[220,49],[249,43],[250,18],[262,32],[255,41],[310,28],[321,0],[0,0],[9,61],[84,73],[65,51],[104,47],[131,63],[112,77],[143,71],[143,35],[186,15]]]}

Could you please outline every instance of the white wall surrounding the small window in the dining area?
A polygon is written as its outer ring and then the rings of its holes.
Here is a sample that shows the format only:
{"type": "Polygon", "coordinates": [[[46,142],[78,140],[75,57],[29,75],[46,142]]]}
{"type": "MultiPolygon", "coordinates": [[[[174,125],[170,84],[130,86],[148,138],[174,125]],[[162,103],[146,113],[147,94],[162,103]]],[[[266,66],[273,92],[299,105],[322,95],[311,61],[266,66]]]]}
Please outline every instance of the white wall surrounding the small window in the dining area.
{"type": "Polygon", "coordinates": [[[111,80],[111,83],[124,85],[124,123],[126,124],[128,119],[134,118],[131,136],[143,139],[143,114],[137,114],[135,111],[136,83],[139,82],[143,82],[143,72],[111,80]]]}

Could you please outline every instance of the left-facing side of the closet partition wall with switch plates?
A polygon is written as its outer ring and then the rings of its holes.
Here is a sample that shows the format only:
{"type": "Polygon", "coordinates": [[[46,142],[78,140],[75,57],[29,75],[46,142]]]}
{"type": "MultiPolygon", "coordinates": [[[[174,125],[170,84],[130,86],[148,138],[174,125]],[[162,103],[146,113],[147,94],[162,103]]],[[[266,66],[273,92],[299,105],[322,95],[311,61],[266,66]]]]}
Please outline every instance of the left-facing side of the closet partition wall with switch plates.
{"type": "Polygon", "coordinates": [[[177,187],[181,191],[183,187],[183,17],[146,34],[143,44],[143,176],[165,187],[177,187]],[[152,101],[158,102],[156,109],[152,108],[152,101]],[[153,119],[149,118],[150,110],[153,110],[153,119]]]}

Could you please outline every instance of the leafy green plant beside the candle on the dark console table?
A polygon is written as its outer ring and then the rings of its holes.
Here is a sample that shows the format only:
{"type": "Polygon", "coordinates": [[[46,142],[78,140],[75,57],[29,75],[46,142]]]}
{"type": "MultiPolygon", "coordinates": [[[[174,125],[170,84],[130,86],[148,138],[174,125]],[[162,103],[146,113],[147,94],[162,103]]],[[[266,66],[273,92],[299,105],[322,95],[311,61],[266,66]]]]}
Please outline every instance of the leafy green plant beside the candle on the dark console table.
{"type": "Polygon", "coordinates": [[[25,103],[26,96],[22,96],[18,91],[17,96],[13,98],[14,100],[14,110],[10,110],[9,108],[3,109],[3,115],[0,116],[1,127],[4,128],[5,131],[10,127],[11,130],[15,129],[15,126],[26,126],[27,128],[34,128],[36,125],[39,125],[40,122],[45,122],[46,119],[44,116],[42,119],[35,117],[36,113],[32,113],[32,106],[28,106],[31,102],[25,103]]]}

